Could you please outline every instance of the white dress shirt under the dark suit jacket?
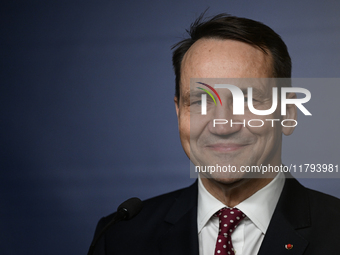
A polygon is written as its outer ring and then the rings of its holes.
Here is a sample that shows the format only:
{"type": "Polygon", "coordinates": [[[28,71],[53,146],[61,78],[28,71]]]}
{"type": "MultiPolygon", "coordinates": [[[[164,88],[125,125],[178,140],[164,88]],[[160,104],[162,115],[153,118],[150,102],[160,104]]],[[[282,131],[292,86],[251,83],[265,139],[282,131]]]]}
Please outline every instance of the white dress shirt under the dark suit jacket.
{"type": "MultiPolygon", "coordinates": [[[[278,174],[268,185],[235,206],[246,215],[231,235],[236,255],[256,255],[258,253],[279,200],[284,181],[284,175],[278,174]]],[[[199,178],[197,227],[200,255],[214,254],[219,220],[213,215],[224,207],[227,206],[212,196],[199,178]]]]}

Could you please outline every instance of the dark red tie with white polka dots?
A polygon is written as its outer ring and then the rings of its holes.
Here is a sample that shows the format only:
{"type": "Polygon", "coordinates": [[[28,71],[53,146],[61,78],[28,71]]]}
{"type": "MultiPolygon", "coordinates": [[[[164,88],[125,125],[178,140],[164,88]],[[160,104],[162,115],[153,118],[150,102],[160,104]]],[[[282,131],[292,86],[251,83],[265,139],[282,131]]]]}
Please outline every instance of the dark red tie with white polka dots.
{"type": "Polygon", "coordinates": [[[222,208],[214,216],[220,218],[215,255],[235,255],[231,234],[245,215],[237,208],[222,208]]]}

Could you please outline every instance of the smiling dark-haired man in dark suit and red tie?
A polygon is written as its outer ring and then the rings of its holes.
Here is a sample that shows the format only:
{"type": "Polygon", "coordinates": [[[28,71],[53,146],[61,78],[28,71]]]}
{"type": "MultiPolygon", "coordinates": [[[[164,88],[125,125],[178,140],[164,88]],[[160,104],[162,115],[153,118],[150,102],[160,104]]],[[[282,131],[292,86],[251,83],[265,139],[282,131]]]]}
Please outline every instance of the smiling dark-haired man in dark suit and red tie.
{"type": "MultiPolygon", "coordinates": [[[[201,16],[190,38],[175,48],[175,106],[190,160],[196,166],[217,162],[238,170],[282,166],[281,137],[290,135],[294,125],[245,125],[253,113],[247,108],[243,116],[233,115],[232,93],[225,89],[217,91],[220,105],[207,103],[207,115],[234,125],[213,125],[198,114],[203,101],[196,99],[203,98],[198,93],[202,88],[190,85],[192,78],[251,78],[254,93],[247,97],[258,110],[271,108],[271,91],[282,86],[271,78],[291,76],[290,57],[280,36],[253,20],[221,14],[203,21],[201,16]]],[[[246,85],[236,86],[244,91],[246,85]]],[[[287,105],[283,116],[277,107],[256,119],[293,122],[296,112],[294,105],[287,105]]],[[[282,173],[249,177],[241,171],[202,171],[192,186],[146,200],[136,217],[110,227],[95,254],[340,254],[338,199],[306,189],[282,173]]],[[[101,219],[95,236],[112,217],[101,219]]]]}

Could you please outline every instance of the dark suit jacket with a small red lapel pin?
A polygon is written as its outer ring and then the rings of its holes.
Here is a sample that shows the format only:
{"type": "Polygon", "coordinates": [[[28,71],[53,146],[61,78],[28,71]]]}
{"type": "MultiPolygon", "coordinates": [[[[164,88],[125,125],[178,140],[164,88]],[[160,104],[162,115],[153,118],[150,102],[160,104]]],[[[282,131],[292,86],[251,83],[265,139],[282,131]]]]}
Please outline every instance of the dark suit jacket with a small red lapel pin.
{"type": "MultiPolygon", "coordinates": [[[[196,181],[144,201],[135,218],[109,228],[94,254],[198,254],[197,193],[196,181]]],[[[112,217],[99,221],[95,235],[112,217]]],[[[340,200],[286,179],[258,254],[340,255],[340,200]]]]}

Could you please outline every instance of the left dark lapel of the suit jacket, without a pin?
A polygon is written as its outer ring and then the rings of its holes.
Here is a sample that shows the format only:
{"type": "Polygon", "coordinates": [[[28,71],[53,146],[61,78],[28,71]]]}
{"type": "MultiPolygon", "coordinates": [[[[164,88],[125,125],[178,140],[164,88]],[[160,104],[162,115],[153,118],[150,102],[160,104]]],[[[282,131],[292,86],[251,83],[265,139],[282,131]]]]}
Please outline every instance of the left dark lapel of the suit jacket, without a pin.
{"type": "Polygon", "coordinates": [[[175,201],[164,221],[167,225],[159,244],[162,255],[197,255],[197,181],[175,201]]]}

